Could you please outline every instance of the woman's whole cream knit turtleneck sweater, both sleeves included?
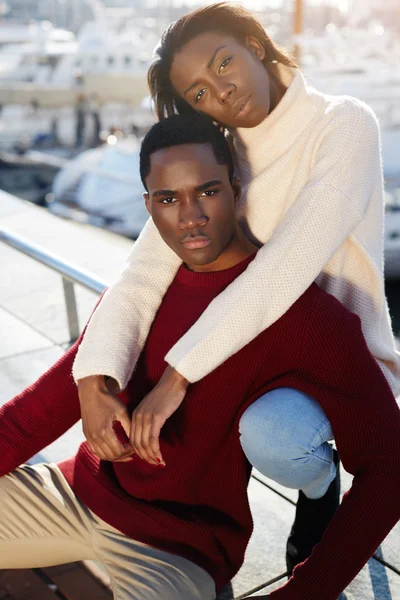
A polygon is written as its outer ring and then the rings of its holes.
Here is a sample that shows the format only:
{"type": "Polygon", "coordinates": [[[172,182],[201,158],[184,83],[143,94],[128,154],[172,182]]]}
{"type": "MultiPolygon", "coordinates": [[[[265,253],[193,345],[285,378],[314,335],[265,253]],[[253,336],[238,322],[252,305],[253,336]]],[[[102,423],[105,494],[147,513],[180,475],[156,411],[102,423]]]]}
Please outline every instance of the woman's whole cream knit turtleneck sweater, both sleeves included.
{"type": "MultiPolygon", "coordinates": [[[[165,360],[188,381],[201,379],[279,319],[316,280],[360,316],[372,354],[400,394],[400,354],[383,281],[376,117],[355,98],[317,92],[299,70],[286,76],[290,84],[275,110],[257,127],[232,132],[243,185],[239,220],[262,248],[165,360]]],[[[75,380],[103,374],[126,387],[180,264],[150,219],[91,318],[75,380]]]]}

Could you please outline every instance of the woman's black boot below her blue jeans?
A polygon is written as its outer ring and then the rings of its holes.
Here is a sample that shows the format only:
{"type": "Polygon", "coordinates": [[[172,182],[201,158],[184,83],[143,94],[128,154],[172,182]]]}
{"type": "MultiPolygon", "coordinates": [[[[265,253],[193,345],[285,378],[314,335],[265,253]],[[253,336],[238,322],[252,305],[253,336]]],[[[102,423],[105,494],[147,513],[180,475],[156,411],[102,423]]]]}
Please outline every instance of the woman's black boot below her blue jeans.
{"type": "Polygon", "coordinates": [[[321,540],[340,502],[340,460],[333,450],[336,477],[322,498],[312,500],[299,491],[296,517],[286,544],[286,566],[289,577],[296,565],[305,561],[321,540]]]}

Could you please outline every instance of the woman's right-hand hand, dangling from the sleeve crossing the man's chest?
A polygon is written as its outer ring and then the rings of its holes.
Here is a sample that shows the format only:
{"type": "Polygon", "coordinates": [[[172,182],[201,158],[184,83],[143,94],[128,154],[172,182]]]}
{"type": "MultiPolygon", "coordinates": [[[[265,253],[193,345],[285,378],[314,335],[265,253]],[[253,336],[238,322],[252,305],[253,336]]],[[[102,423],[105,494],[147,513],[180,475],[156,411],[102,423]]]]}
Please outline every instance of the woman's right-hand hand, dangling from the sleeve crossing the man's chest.
{"type": "Polygon", "coordinates": [[[168,366],[155,388],[133,411],[130,441],[143,460],[165,467],[160,451],[160,431],[185,397],[189,382],[168,366]]]}

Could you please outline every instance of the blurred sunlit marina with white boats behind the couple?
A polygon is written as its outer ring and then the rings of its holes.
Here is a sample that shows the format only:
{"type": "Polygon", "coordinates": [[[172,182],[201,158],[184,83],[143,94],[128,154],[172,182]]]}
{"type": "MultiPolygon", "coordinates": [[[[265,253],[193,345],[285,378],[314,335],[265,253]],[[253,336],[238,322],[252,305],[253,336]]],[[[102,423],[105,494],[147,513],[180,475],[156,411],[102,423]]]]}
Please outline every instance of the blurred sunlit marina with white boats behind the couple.
{"type": "MultiPolygon", "coordinates": [[[[135,239],[147,218],[140,138],[166,26],[194,0],[0,0],[0,189],[135,239]]],[[[367,102],[382,129],[386,289],[400,335],[400,2],[242,0],[323,92],[367,102]]]]}

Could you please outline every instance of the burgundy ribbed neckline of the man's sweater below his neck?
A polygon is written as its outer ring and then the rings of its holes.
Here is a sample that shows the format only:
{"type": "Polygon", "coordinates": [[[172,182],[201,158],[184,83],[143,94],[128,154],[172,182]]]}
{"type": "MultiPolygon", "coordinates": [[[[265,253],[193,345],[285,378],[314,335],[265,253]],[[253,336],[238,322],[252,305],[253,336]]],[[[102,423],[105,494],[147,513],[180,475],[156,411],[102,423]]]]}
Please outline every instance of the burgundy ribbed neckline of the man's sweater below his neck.
{"type": "Polygon", "coordinates": [[[183,264],[176,274],[175,281],[185,286],[193,288],[207,288],[211,292],[215,292],[216,289],[223,289],[229,285],[234,279],[236,279],[236,277],[245,271],[247,266],[255,258],[256,254],[257,251],[233,267],[230,267],[229,269],[223,269],[222,271],[208,271],[206,273],[200,273],[198,271],[190,271],[183,264]]]}

